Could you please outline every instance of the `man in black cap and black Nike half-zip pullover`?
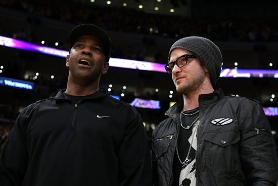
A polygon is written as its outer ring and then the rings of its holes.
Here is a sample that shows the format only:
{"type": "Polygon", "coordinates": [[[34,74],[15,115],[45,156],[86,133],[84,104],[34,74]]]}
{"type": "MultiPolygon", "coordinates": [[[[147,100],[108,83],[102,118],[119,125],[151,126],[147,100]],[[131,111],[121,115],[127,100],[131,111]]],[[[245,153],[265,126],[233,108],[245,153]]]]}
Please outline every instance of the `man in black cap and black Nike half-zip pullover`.
{"type": "Polygon", "coordinates": [[[69,43],[67,89],[20,113],[0,155],[0,185],[151,185],[140,115],[99,88],[109,68],[109,36],[82,24],[69,43]]]}

